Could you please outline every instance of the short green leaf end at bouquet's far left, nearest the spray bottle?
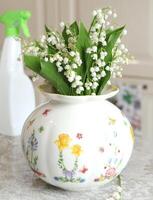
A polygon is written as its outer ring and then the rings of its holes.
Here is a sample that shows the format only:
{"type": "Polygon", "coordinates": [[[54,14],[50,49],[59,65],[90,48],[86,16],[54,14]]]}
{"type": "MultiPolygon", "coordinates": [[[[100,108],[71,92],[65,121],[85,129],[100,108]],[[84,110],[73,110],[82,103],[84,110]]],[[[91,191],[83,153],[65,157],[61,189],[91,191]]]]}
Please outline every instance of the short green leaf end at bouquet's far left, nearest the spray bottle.
{"type": "Polygon", "coordinates": [[[41,70],[39,57],[24,55],[24,63],[26,67],[39,74],[41,70]]]}

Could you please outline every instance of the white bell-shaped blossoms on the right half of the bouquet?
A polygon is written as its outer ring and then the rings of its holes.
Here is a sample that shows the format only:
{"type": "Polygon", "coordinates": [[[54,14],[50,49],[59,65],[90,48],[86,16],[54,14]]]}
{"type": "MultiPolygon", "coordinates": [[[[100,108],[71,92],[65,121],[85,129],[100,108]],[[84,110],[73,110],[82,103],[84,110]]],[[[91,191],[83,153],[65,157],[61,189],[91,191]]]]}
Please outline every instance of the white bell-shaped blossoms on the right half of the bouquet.
{"type": "MultiPolygon", "coordinates": [[[[92,47],[87,49],[87,53],[91,55],[94,61],[94,66],[91,67],[91,82],[86,84],[86,89],[96,89],[98,82],[101,78],[107,75],[107,71],[110,71],[111,77],[122,77],[122,65],[128,64],[128,49],[124,44],[121,44],[121,37],[118,39],[117,44],[113,49],[114,59],[109,65],[105,63],[105,57],[107,52],[104,50],[107,46],[106,30],[113,29],[114,27],[108,21],[109,17],[116,18],[117,14],[110,8],[99,9],[93,11],[94,20],[90,28],[90,39],[92,41],[92,47]],[[102,44],[103,49],[99,52],[97,50],[98,43],[102,44]]],[[[123,35],[127,34],[127,30],[123,31],[123,35]]],[[[110,81],[107,84],[111,84],[110,81]]]]}

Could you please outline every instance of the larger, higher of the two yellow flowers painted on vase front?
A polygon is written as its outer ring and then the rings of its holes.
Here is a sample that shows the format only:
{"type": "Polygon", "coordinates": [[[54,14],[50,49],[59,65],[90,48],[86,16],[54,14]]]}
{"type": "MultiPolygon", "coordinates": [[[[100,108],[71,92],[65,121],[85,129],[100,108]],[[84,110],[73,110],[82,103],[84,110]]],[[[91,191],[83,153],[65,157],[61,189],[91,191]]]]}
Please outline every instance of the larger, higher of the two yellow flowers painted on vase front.
{"type": "Polygon", "coordinates": [[[57,144],[59,150],[62,151],[69,147],[71,140],[72,139],[70,138],[70,136],[68,134],[61,133],[58,136],[58,140],[56,140],[55,143],[57,144]]]}

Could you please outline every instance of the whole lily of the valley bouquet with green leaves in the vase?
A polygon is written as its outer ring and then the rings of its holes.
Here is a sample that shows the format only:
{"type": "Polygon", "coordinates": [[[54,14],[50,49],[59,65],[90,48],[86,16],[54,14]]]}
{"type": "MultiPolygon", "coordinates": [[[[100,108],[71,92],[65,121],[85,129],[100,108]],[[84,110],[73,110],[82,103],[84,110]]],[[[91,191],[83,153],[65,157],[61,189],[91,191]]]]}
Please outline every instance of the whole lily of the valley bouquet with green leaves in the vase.
{"type": "Polygon", "coordinates": [[[63,95],[100,95],[111,79],[122,76],[128,49],[121,40],[127,31],[116,27],[110,8],[93,11],[90,28],[75,21],[60,23],[61,33],[45,27],[40,41],[26,44],[24,61],[63,95]]]}

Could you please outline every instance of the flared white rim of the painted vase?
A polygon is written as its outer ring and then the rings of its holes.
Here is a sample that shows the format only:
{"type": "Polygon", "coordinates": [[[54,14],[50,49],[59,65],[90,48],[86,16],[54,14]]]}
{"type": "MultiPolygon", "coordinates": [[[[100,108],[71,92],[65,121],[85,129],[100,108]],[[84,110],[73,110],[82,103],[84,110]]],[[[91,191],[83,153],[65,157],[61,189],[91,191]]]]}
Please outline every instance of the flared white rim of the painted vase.
{"type": "Polygon", "coordinates": [[[109,86],[102,92],[101,95],[95,95],[95,96],[94,95],[71,96],[71,95],[51,93],[47,91],[45,85],[40,85],[38,89],[50,100],[67,102],[67,103],[71,102],[80,103],[80,101],[106,100],[115,96],[119,92],[119,88],[116,86],[109,86]]]}

